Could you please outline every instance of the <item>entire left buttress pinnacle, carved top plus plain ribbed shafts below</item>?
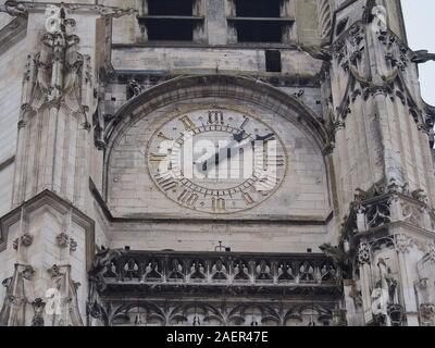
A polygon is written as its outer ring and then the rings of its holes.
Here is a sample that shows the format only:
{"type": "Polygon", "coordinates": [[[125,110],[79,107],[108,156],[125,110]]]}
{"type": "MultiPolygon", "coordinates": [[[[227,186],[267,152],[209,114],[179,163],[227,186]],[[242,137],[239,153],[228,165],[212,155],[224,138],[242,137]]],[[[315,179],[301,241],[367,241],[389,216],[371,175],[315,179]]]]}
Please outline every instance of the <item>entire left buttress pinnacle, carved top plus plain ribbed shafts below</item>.
{"type": "MultiPolygon", "coordinates": [[[[16,154],[22,160],[15,169],[15,207],[30,192],[45,189],[57,191],[71,201],[83,200],[86,187],[87,162],[80,160],[83,165],[77,166],[70,157],[76,156],[78,161],[87,153],[76,144],[90,136],[96,108],[92,60],[79,52],[76,22],[69,17],[65,7],[47,5],[45,14],[39,50],[28,54],[23,80],[16,154]],[[40,135],[32,137],[29,134],[40,135]],[[50,136],[54,134],[58,136],[50,136]],[[29,153],[38,160],[35,167],[29,164],[29,153]],[[71,191],[61,177],[78,173],[83,176],[82,183],[76,183],[75,191],[71,191]]],[[[78,204],[84,202],[78,201],[78,204]]]]}

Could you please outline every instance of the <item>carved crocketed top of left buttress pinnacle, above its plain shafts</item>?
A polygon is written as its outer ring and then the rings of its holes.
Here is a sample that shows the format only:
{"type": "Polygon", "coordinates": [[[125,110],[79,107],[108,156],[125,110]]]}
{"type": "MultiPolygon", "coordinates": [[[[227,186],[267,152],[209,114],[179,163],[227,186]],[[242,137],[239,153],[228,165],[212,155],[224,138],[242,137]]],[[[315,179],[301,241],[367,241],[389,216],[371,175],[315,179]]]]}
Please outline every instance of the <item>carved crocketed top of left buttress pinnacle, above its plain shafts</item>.
{"type": "Polygon", "coordinates": [[[76,22],[67,18],[62,7],[49,5],[46,10],[46,33],[42,50],[34,57],[36,77],[24,105],[34,109],[48,103],[64,104],[72,113],[83,115],[88,124],[92,107],[90,58],[78,52],[79,38],[74,34],[76,22]]]}

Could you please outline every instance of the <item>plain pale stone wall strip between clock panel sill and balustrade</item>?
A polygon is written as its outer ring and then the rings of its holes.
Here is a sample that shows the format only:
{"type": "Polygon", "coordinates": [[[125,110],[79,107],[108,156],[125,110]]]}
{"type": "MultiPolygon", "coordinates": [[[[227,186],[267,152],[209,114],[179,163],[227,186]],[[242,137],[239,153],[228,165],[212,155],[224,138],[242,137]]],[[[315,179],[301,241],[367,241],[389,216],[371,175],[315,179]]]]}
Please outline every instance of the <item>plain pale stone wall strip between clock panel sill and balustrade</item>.
{"type": "Polygon", "coordinates": [[[132,250],[214,251],[219,241],[238,252],[320,252],[323,224],[259,222],[137,222],[112,228],[112,248],[132,250]]]}

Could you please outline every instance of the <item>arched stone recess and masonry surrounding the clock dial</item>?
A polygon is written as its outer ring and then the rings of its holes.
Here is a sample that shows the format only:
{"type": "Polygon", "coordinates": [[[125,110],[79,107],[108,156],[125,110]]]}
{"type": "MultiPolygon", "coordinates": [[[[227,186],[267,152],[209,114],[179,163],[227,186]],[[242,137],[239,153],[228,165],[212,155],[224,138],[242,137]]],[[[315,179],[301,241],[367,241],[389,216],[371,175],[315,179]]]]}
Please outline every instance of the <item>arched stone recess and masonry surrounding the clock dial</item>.
{"type": "MultiPolygon", "coordinates": [[[[233,119],[237,117],[229,117],[233,119]]],[[[325,139],[323,126],[307,107],[269,85],[224,75],[176,78],[145,91],[119,111],[107,139],[105,200],[115,217],[324,221],[331,212],[322,154],[325,139]],[[183,197],[183,189],[167,195],[153,179],[156,173],[149,162],[151,153],[148,153],[153,136],[165,125],[173,127],[181,115],[207,113],[207,110],[250,115],[253,122],[264,125],[264,132],[273,133],[279,139],[285,151],[286,171],[278,179],[278,187],[266,195],[266,199],[249,194],[244,196],[248,197],[246,209],[236,204],[236,198],[228,200],[226,207],[234,204],[237,209],[219,213],[214,206],[211,209],[212,200],[215,204],[213,197],[204,194],[203,199],[198,200],[204,209],[187,207],[177,201],[177,197],[183,197]],[[251,196],[256,203],[250,202],[251,196]]],[[[239,201],[241,195],[246,192],[240,191],[239,201]]]]}

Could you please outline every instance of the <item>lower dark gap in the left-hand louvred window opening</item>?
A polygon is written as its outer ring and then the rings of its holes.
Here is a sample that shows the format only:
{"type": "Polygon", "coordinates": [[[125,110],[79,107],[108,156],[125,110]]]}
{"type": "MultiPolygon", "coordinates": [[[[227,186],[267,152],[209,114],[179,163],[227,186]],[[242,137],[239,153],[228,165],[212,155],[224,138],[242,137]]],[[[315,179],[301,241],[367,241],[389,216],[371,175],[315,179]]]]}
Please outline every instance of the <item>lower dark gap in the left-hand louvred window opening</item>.
{"type": "Polygon", "coordinates": [[[191,41],[194,25],[191,21],[150,21],[147,23],[148,40],[191,41]]]}

